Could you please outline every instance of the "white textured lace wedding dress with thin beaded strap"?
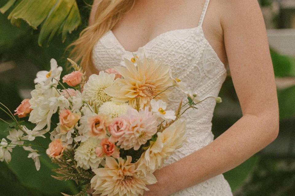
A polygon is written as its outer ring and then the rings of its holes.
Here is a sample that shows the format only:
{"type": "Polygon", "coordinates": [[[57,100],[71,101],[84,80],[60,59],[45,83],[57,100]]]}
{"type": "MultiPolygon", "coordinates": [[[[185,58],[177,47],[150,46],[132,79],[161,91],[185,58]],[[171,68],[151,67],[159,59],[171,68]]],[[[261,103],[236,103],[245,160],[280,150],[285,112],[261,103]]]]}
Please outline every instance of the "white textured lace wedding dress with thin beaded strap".
{"type": "MultiPolygon", "coordinates": [[[[181,78],[196,92],[200,99],[217,97],[226,78],[226,69],[204,36],[202,29],[209,0],[195,28],[176,29],[156,36],[144,48],[153,59],[171,66],[174,77],[181,78]]],[[[98,70],[120,66],[122,55],[130,53],[119,43],[111,30],[95,44],[92,60],[98,70]]],[[[136,53],[136,52],[134,52],[136,53]]],[[[182,97],[173,90],[169,97],[170,108],[177,108],[182,97]]],[[[178,149],[166,162],[171,164],[213,141],[211,120],[216,102],[207,99],[198,104],[198,109],[190,109],[183,116],[187,121],[187,143],[178,149]]],[[[181,180],[181,179],[179,179],[181,180]]],[[[230,186],[223,175],[215,176],[203,183],[172,194],[173,196],[231,196],[230,186]]]]}

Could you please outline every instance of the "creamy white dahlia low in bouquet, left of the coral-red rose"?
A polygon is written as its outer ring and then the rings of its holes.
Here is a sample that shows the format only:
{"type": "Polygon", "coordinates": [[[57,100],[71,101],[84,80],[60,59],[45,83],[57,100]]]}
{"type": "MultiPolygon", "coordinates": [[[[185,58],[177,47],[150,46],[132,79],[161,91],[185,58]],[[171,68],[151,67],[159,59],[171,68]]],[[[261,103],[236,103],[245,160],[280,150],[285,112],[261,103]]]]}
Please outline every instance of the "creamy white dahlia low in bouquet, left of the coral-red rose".
{"type": "Polygon", "coordinates": [[[98,157],[95,154],[96,147],[100,146],[100,139],[90,137],[76,149],[74,159],[77,161],[77,166],[83,169],[95,169],[103,160],[103,157],[98,157]]]}

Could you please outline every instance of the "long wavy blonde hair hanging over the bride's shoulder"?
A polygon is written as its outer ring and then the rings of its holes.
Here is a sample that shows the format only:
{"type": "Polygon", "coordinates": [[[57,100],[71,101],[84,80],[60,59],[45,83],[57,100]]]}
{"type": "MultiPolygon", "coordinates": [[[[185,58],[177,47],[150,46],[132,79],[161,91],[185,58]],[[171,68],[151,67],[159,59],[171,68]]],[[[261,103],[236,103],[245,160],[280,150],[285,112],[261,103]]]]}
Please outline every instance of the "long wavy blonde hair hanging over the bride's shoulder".
{"type": "Polygon", "coordinates": [[[86,72],[93,67],[91,57],[95,43],[116,25],[123,13],[132,9],[134,2],[135,0],[100,0],[93,24],[85,28],[79,38],[67,47],[74,46],[70,57],[79,62],[86,72]]]}

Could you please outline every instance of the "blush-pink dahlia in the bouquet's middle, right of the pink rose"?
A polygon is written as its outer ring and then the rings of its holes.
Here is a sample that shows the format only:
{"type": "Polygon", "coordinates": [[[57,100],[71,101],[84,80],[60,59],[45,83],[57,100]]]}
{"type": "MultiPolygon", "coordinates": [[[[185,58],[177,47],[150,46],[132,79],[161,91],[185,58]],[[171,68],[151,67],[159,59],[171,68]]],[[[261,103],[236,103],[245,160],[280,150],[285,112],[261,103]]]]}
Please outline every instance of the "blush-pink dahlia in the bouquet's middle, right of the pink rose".
{"type": "Polygon", "coordinates": [[[138,150],[157,132],[156,118],[148,111],[148,107],[139,112],[130,108],[123,118],[128,122],[129,129],[118,139],[120,148],[138,150]]]}

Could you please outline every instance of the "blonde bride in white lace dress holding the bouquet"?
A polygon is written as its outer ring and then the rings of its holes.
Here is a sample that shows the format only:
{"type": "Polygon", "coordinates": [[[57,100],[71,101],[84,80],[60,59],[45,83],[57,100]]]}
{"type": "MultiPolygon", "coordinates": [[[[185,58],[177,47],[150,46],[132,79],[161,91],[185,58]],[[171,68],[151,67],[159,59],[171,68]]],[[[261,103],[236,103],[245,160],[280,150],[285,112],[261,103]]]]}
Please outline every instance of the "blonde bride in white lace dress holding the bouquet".
{"type": "MultiPolygon", "coordinates": [[[[72,45],[88,76],[144,50],[200,99],[218,96],[229,66],[242,118],[213,141],[216,102],[186,113],[187,143],[155,171],[158,182],[144,196],[230,196],[222,173],[277,137],[276,86],[257,0],[95,0],[89,27],[72,45]]],[[[171,107],[181,99],[175,95],[171,107]]]]}

